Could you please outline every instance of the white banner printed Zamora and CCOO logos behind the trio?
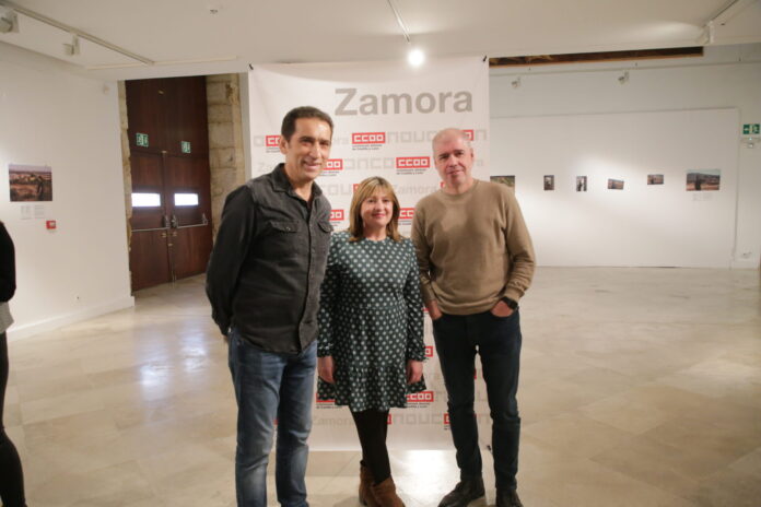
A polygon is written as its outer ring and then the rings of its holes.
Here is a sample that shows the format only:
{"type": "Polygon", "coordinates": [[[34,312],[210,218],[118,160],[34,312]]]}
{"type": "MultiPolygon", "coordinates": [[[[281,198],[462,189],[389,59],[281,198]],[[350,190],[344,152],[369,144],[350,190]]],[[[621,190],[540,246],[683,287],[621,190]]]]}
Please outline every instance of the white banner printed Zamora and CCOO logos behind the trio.
{"type": "MultiPolygon", "coordinates": [[[[253,177],[283,161],[280,125],[290,109],[315,106],[332,117],[330,162],[317,184],[330,200],[337,229],[349,226],[355,186],[382,176],[395,188],[400,229],[409,235],[418,200],[441,188],[431,139],[443,128],[469,134],[476,151],[473,176],[489,180],[489,63],[482,57],[434,60],[417,69],[399,62],[259,66],[249,72],[249,104],[253,177]]],[[[446,391],[428,317],[425,344],[429,390],[410,394],[407,409],[391,410],[389,448],[452,448],[446,391]]],[[[477,382],[477,416],[481,439],[488,441],[485,389],[477,382]]],[[[349,409],[316,402],[311,446],[359,449],[349,409]]]]}

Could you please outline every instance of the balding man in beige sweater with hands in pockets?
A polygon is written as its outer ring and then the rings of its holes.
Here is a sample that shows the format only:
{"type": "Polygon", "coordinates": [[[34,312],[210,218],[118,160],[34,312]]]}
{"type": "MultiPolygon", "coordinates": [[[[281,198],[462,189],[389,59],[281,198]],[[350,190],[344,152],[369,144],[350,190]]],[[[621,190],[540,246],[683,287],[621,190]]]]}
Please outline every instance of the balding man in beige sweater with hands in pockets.
{"type": "Polygon", "coordinates": [[[440,507],[484,495],[473,412],[475,358],[481,356],[492,416],[497,507],[522,507],[518,471],[520,361],[518,300],[534,275],[534,247],[513,190],[473,179],[473,150],[461,130],[433,139],[444,187],[418,202],[412,240],[447,390],[460,482],[440,507]]]}

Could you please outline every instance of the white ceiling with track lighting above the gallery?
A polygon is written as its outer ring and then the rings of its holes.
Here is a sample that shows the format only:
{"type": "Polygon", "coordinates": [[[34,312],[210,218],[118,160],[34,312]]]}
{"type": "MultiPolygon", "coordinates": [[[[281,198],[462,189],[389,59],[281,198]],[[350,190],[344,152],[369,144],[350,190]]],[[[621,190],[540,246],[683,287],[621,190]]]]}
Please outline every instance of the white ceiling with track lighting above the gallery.
{"type": "MultiPolygon", "coordinates": [[[[9,3],[0,0],[0,5],[9,3]]],[[[0,42],[104,79],[242,72],[248,63],[403,59],[387,0],[15,0],[140,55],[136,60],[19,14],[0,42]],[[210,10],[218,12],[212,14],[210,10]],[[195,61],[195,63],[194,63],[195,61]],[[112,69],[93,69],[117,66],[112,69]],[[120,67],[119,67],[120,66],[120,67]]],[[[699,46],[733,0],[394,0],[413,45],[431,57],[508,57],[699,46]]],[[[5,9],[0,7],[0,14],[5,9]]],[[[738,0],[711,44],[761,43],[761,0],[738,0]]],[[[723,17],[721,21],[725,21],[723,17]]]]}

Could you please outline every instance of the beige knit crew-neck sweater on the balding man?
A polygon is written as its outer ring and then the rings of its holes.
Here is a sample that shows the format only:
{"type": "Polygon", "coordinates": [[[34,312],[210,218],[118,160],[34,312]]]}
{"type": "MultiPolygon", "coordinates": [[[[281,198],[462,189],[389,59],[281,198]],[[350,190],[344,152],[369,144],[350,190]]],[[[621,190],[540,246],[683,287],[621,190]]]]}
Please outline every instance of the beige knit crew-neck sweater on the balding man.
{"type": "Polygon", "coordinates": [[[465,193],[438,190],[418,202],[412,223],[425,303],[445,314],[518,300],[534,276],[534,247],[513,190],[475,180],[465,193]]]}

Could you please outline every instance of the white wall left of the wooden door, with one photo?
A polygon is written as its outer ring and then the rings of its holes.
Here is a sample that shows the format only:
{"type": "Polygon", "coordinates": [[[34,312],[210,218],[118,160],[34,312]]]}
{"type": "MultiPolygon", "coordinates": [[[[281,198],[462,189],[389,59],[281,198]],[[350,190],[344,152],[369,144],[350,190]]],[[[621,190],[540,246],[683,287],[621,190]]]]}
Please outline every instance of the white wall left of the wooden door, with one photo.
{"type": "Polygon", "coordinates": [[[16,248],[11,339],[133,305],[117,87],[0,44],[0,217],[16,248]],[[52,167],[45,219],[21,219],[8,164],[52,167]],[[57,231],[46,231],[56,220],[57,231]]]}

